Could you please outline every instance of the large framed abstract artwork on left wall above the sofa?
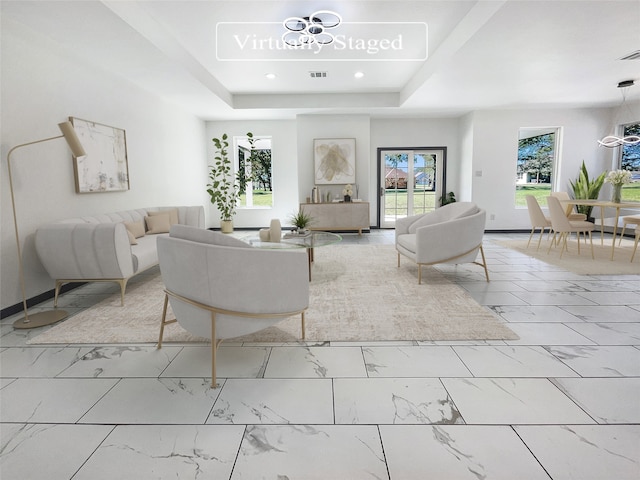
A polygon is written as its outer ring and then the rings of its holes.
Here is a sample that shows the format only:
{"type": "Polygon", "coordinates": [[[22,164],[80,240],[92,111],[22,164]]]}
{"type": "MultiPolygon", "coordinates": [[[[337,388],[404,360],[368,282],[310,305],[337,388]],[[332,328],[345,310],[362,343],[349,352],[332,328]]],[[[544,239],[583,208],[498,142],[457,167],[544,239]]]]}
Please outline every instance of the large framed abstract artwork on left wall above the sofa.
{"type": "Polygon", "coordinates": [[[77,193],[129,190],[127,139],[120,128],[80,118],[69,121],[87,154],[73,157],[77,193]]]}

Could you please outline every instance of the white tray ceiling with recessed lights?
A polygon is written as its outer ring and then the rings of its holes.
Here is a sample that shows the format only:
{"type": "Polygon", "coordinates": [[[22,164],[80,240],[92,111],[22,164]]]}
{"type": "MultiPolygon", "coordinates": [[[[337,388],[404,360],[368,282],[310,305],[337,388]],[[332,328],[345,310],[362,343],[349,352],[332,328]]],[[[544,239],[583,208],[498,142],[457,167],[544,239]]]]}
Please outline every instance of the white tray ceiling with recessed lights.
{"type": "Polygon", "coordinates": [[[637,85],[627,100],[640,98],[640,60],[620,60],[640,50],[640,0],[3,0],[1,8],[3,21],[207,120],[604,107],[620,104],[617,84],[629,79],[637,85]],[[356,43],[319,53],[248,48],[279,39],[285,18],[318,10],[338,12],[334,33],[356,43]],[[402,49],[386,50],[386,60],[357,48],[369,39],[398,46],[398,35],[402,49]]]}

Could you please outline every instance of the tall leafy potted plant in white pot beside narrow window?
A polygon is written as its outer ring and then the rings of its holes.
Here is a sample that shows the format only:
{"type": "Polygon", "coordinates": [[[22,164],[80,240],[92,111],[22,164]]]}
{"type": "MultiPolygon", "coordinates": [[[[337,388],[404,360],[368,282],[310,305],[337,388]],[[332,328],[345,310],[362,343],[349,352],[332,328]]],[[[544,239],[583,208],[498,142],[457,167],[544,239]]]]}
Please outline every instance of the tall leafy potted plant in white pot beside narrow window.
{"type": "Polygon", "coordinates": [[[240,199],[240,187],[232,174],[231,159],[227,151],[229,148],[227,138],[225,133],[221,138],[212,139],[216,152],[213,165],[209,166],[210,183],[207,184],[211,203],[220,211],[220,230],[223,233],[233,232],[233,216],[240,199]]]}

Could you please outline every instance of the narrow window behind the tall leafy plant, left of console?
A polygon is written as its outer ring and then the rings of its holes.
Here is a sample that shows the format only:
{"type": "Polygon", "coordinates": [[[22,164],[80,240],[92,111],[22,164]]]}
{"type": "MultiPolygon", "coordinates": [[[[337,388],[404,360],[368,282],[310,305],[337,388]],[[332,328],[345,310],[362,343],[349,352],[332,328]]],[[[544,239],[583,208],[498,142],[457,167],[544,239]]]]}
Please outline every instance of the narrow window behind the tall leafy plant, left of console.
{"type": "Polygon", "coordinates": [[[236,137],[235,144],[240,207],[272,207],[271,137],[247,134],[245,137],[236,137]]]}

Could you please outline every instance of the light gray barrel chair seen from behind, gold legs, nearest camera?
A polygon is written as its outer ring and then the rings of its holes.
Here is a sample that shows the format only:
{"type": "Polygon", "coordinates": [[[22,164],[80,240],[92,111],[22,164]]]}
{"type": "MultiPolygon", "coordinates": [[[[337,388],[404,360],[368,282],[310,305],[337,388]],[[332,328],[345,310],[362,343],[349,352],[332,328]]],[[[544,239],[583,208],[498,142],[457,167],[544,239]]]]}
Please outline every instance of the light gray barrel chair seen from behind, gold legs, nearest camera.
{"type": "Polygon", "coordinates": [[[263,330],[300,315],[304,339],[309,306],[304,249],[254,248],[219,232],[173,225],[158,238],[165,301],[158,348],[165,325],[178,322],[189,333],[211,339],[211,387],[216,387],[220,342],[263,330]],[[167,307],[175,319],[167,320],[167,307]]]}

